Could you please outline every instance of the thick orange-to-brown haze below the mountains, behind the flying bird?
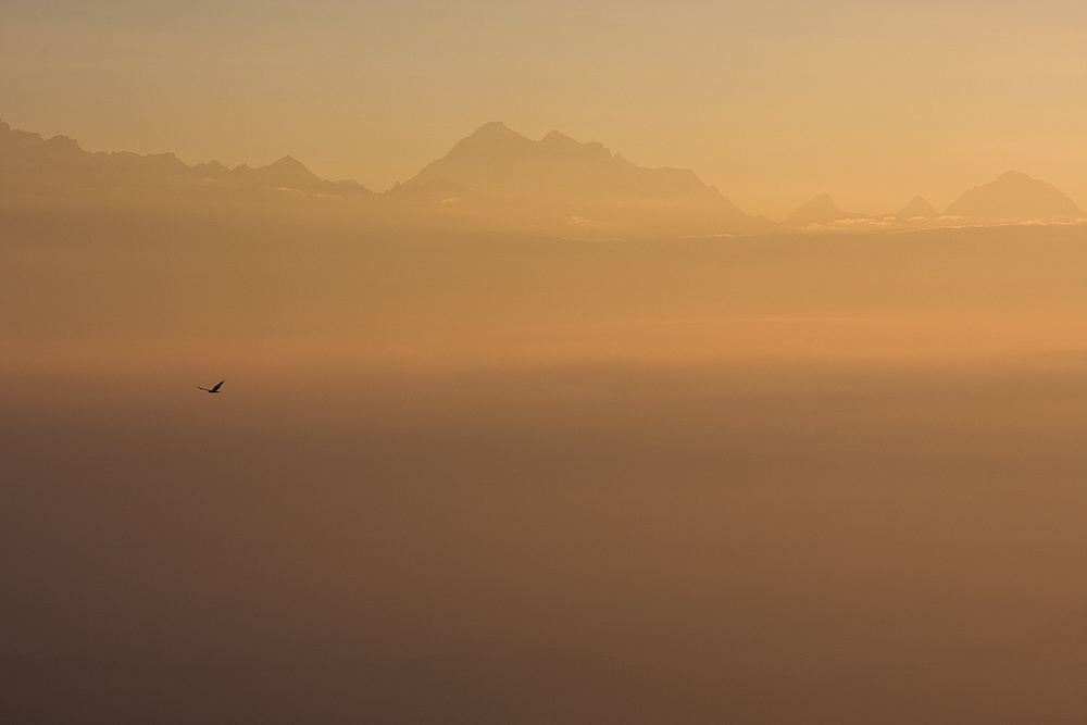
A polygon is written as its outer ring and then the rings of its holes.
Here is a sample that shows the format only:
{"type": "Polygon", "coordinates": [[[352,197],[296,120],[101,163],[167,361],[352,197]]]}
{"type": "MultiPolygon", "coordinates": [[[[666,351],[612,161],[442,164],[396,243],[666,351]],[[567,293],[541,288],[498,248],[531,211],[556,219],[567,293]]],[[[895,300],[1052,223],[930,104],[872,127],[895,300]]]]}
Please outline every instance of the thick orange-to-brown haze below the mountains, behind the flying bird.
{"type": "Polygon", "coordinates": [[[252,203],[4,211],[5,722],[1087,713],[1083,223],[252,203]]]}

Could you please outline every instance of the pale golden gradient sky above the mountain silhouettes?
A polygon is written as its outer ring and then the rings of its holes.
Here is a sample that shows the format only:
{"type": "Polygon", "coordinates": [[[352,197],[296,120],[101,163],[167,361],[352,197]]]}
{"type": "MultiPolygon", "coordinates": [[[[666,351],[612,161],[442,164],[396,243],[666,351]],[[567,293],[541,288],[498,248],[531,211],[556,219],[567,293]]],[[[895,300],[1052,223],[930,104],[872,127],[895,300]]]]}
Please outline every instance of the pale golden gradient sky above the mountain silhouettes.
{"type": "Polygon", "coordinates": [[[1014,168],[1087,207],[1082,0],[3,0],[0,120],[375,190],[487,121],[695,170],[749,213],[942,209],[1014,168]]]}

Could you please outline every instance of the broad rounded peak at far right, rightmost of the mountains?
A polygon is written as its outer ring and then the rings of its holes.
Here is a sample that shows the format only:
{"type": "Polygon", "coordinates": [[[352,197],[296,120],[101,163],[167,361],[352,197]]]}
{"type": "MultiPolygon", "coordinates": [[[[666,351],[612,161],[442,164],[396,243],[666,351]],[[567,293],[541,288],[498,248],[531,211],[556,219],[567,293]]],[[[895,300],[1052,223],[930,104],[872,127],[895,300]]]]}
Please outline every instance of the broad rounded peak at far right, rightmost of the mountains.
{"type": "Polygon", "coordinates": [[[995,182],[969,189],[944,213],[991,222],[1077,220],[1087,216],[1052,184],[1014,171],[1004,172],[995,182]]]}

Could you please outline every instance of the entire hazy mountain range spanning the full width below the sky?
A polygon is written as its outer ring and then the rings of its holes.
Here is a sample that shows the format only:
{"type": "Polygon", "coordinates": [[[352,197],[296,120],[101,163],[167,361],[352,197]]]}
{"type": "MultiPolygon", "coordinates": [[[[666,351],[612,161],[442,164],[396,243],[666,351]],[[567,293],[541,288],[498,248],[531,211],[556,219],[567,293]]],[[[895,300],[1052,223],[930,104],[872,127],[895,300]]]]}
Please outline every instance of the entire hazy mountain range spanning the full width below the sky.
{"type": "MultiPolygon", "coordinates": [[[[690,170],[638,166],[601,143],[582,143],[558,130],[533,140],[501,122],[484,124],[385,193],[351,180],[322,179],[291,157],[255,168],[245,164],[228,168],[216,161],[189,166],[172,153],[91,153],[71,138],[45,139],[0,122],[0,190],[13,203],[103,197],[171,203],[193,195],[237,198],[239,193],[286,201],[283,192],[289,191],[296,202],[314,197],[366,200],[367,213],[389,218],[587,237],[745,234],[775,226],[745,214],[690,170]]],[[[989,223],[1085,216],[1052,185],[1007,172],[965,191],[942,215],[920,196],[897,214],[867,215],[842,211],[822,193],[782,226],[865,221],[915,226],[951,217],[989,223]]]]}

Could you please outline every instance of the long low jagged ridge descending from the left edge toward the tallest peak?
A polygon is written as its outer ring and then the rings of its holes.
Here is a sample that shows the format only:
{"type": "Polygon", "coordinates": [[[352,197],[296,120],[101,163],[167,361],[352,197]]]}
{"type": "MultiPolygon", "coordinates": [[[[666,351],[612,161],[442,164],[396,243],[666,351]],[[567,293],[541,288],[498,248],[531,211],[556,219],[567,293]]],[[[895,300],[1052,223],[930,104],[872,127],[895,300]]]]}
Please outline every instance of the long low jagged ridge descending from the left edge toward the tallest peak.
{"type": "Polygon", "coordinates": [[[173,153],[91,153],[66,136],[43,139],[0,122],[0,184],[16,192],[60,189],[139,189],[142,192],[195,185],[239,189],[291,189],[334,196],[371,193],[354,182],[326,182],[285,157],[267,166],[227,168],[217,161],[189,166],[173,153]]]}

